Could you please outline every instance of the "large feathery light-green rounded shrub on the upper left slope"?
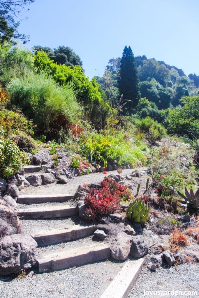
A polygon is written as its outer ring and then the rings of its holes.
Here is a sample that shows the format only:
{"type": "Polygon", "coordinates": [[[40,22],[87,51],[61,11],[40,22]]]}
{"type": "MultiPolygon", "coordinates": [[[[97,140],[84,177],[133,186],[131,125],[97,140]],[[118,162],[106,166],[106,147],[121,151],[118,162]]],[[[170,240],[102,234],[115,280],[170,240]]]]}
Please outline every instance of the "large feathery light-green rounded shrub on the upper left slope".
{"type": "MultiPolygon", "coordinates": [[[[81,118],[81,108],[68,86],[60,87],[45,74],[30,72],[23,79],[12,79],[7,85],[10,104],[20,108],[38,126],[38,133],[49,139],[61,129],[81,118]]],[[[39,135],[40,135],[39,134],[39,135]]]]}

